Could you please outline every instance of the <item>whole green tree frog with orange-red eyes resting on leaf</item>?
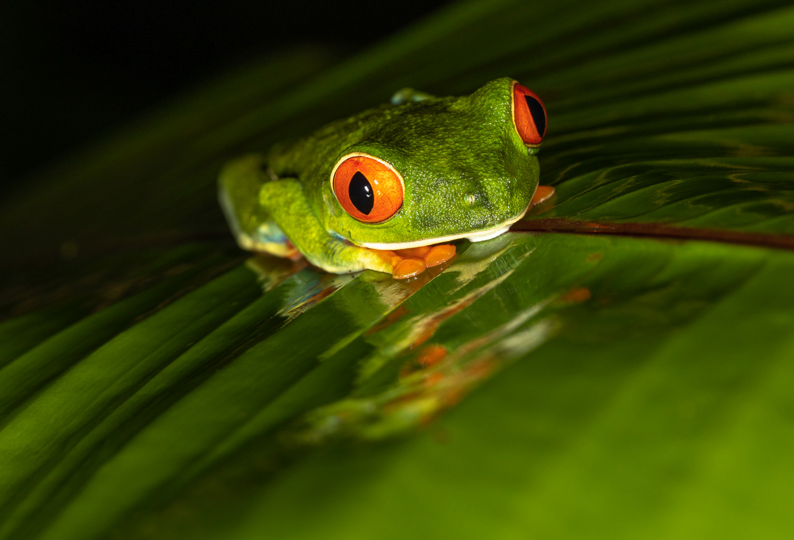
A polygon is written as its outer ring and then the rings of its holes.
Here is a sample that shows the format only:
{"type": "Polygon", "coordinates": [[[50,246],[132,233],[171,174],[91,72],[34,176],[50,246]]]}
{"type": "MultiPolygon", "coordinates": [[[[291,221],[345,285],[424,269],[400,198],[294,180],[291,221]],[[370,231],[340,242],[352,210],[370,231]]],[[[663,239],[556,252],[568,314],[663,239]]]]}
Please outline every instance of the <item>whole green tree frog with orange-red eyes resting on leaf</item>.
{"type": "MultiPolygon", "coordinates": [[[[409,278],[520,220],[538,188],[545,105],[513,79],[391,103],[226,165],[219,197],[237,243],[343,274],[409,278]]],[[[549,190],[538,190],[548,198],[549,190]]]]}

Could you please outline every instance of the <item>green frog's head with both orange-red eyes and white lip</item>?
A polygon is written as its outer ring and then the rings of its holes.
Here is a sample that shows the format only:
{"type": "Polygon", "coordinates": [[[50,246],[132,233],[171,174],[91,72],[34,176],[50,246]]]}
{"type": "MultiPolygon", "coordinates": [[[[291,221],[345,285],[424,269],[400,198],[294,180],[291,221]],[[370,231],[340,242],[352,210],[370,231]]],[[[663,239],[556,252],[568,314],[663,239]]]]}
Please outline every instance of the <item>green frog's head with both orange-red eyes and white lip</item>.
{"type": "Polygon", "coordinates": [[[540,98],[507,78],[384,109],[337,156],[330,226],[375,249],[498,236],[538,186],[546,123],[540,98]]]}

